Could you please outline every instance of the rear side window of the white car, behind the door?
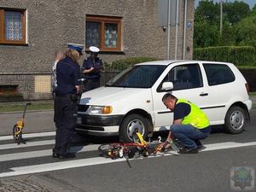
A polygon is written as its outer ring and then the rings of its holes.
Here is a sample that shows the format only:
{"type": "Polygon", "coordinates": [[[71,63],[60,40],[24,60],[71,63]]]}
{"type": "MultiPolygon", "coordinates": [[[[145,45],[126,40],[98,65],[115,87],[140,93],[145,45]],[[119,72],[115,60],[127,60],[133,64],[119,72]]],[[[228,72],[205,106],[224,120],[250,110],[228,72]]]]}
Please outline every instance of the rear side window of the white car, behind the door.
{"type": "Polygon", "coordinates": [[[207,73],[207,81],[210,86],[235,81],[235,75],[227,65],[204,63],[203,67],[207,73]]]}

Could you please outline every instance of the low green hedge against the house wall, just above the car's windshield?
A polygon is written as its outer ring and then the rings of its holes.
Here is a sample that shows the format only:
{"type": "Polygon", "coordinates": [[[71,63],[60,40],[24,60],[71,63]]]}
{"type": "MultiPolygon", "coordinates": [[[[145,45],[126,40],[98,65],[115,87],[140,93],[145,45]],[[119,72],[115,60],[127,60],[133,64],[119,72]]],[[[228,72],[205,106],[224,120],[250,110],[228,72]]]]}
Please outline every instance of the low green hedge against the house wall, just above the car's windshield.
{"type": "Polygon", "coordinates": [[[140,62],[157,61],[157,60],[159,59],[154,57],[127,57],[125,59],[113,61],[112,65],[108,65],[108,67],[118,69],[118,70],[124,70],[125,68],[140,62]]]}

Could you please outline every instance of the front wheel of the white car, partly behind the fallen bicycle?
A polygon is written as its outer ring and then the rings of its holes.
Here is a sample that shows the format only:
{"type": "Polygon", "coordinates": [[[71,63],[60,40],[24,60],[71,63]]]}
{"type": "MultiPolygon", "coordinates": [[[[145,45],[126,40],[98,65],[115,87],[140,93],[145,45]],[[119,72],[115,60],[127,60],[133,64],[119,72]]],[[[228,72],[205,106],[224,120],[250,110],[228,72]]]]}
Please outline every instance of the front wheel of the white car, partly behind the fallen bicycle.
{"type": "Polygon", "coordinates": [[[129,114],[125,117],[119,128],[120,142],[133,143],[132,135],[139,131],[143,138],[148,136],[149,120],[140,114],[129,114]]]}

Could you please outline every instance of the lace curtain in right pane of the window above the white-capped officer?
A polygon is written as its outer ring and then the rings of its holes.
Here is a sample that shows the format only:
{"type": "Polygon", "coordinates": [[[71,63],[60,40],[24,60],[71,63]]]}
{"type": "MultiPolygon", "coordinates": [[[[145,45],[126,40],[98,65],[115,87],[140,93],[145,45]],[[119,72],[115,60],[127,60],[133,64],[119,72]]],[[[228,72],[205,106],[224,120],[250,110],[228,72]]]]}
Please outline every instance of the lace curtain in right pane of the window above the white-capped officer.
{"type": "Polygon", "coordinates": [[[105,47],[116,48],[118,41],[118,25],[113,23],[105,24],[105,47]]]}

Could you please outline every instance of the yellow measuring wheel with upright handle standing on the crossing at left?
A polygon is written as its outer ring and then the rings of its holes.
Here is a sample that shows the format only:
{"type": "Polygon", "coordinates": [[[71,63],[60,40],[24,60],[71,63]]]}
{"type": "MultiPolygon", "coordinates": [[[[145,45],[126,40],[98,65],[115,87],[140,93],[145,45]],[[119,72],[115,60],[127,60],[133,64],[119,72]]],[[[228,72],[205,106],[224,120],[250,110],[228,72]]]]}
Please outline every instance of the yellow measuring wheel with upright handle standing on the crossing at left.
{"type": "Polygon", "coordinates": [[[25,126],[25,114],[26,114],[26,108],[28,105],[31,105],[31,102],[26,103],[22,118],[19,121],[17,121],[17,123],[14,125],[14,128],[13,128],[14,141],[15,141],[15,143],[18,143],[18,144],[20,144],[20,143],[26,144],[26,142],[22,138],[22,130],[25,126]]]}

